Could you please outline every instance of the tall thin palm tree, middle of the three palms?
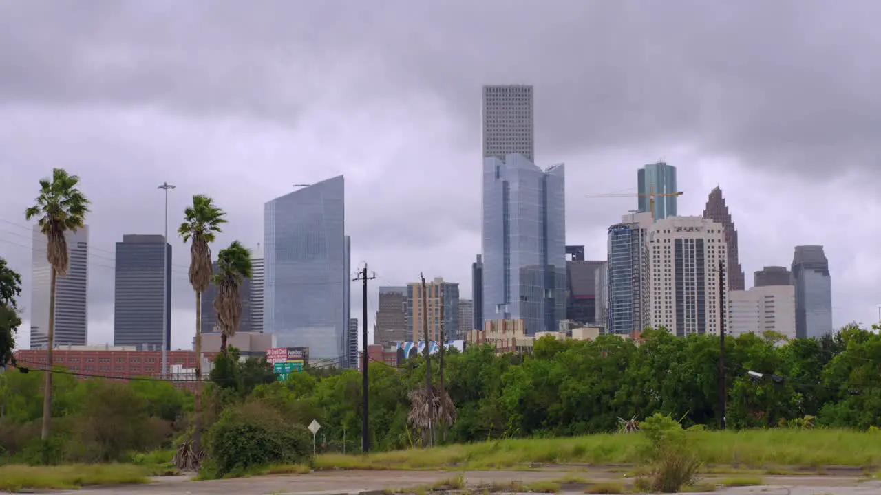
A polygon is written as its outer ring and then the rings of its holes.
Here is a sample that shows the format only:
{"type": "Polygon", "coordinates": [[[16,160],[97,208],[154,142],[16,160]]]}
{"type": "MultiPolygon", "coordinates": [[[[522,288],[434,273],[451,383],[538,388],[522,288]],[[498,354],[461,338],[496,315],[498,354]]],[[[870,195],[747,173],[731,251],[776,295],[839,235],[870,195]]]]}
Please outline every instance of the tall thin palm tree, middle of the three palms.
{"type": "Polygon", "coordinates": [[[193,425],[193,451],[202,452],[202,292],[211,283],[211,247],[214,235],[223,232],[226,212],[205,195],[193,196],[193,204],[183,211],[183,223],[177,229],[189,242],[189,284],[196,291],[196,421],[193,425]]]}

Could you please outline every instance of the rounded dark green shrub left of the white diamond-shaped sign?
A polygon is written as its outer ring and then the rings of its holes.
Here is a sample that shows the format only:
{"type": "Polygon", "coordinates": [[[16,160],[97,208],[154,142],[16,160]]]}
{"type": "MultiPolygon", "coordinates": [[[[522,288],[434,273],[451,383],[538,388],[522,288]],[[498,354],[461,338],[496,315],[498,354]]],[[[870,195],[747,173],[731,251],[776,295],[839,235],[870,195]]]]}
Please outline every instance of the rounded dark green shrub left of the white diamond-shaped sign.
{"type": "Polygon", "coordinates": [[[204,477],[224,477],[271,464],[312,460],[312,435],[291,418],[261,402],[233,406],[207,436],[209,462],[204,477]]]}

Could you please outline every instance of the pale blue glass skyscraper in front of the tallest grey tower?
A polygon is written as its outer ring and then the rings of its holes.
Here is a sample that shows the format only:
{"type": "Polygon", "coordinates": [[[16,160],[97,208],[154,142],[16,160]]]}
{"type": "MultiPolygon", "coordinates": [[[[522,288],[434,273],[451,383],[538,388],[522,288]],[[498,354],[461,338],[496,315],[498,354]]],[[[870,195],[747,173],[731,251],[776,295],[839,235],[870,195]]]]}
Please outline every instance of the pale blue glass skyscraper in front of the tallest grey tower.
{"type": "Polygon", "coordinates": [[[566,318],[565,166],[484,159],[483,318],[555,331],[566,318]]]}

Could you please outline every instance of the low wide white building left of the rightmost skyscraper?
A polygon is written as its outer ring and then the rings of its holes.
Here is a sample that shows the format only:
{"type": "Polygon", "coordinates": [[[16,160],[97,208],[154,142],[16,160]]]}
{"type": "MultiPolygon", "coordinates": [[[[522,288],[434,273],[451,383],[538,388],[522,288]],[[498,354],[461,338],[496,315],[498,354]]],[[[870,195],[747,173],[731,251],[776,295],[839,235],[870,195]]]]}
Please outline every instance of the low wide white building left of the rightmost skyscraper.
{"type": "Polygon", "coordinates": [[[768,330],[796,338],[796,286],[764,285],[729,291],[728,332],[740,336],[768,330]]]}

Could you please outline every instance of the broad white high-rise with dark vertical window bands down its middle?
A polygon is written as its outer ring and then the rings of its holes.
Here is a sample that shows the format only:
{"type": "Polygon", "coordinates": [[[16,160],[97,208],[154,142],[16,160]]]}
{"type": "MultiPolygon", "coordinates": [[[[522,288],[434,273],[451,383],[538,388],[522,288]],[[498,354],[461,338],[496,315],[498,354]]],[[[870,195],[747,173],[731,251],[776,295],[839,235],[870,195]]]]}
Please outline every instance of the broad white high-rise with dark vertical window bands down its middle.
{"type": "Polygon", "coordinates": [[[720,302],[727,301],[719,292],[719,264],[727,260],[722,229],[703,217],[668,217],[648,231],[652,327],[677,336],[719,333],[720,302]]]}

